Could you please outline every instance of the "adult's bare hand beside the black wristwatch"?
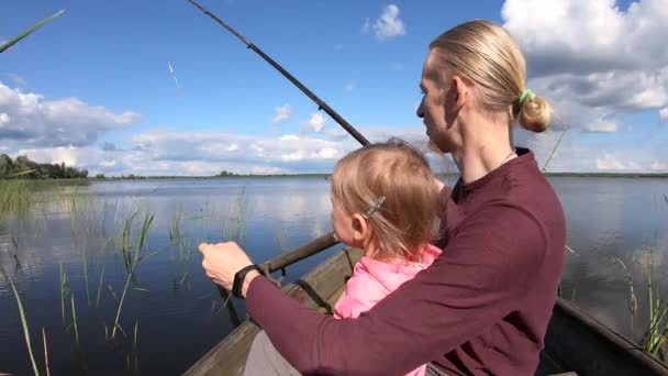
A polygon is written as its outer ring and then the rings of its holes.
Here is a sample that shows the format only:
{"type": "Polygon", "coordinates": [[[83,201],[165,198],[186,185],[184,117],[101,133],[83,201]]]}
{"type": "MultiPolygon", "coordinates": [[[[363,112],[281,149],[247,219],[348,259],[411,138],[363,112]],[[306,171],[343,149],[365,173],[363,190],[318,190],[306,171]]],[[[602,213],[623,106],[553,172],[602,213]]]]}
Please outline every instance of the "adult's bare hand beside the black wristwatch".
{"type": "MultiPolygon", "coordinates": [[[[227,290],[232,290],[232,284],[234,283],[234,275],[236,272],[253,264],[244,250],[234,242],[218,244],[202,243],[200,244],[199,250],[204,256],[202,267],[204,268],[204,272],[207,272],[207,276],[227,290]]],[[[243,290],[244,296],[246,292],[245,288],[250,283],[252,277],[255,277],[255,274],[248,273],[246,275],[243,290]]]]}

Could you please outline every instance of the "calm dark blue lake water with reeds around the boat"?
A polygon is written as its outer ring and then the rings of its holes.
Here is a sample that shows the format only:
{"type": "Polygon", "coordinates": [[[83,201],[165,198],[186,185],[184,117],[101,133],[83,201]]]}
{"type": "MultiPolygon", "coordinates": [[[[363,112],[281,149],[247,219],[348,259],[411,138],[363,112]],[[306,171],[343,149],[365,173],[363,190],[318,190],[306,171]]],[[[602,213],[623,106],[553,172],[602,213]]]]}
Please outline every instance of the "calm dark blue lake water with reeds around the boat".
{"type": "MultiPolygon", "coordinates": [[[[668,179],[550,181],[575,252],[567,255],[563,296],[637,339],[646,321],[648,255],[657,288],[668,294],[668,179]],[[628,277],[641,312],[634,328],[628,277]]],[[[331,231],[330,180],[322,177],[96,181],[56,190],[40,193],[27,214],[0,215],[0,265],[23,300],[37,364],[43,371],[44,329],[56,375],[180,374],[235,324],[225,296],[202,273],[197,244],[238,239],[261,262],[331,231]],[[146,258],[123,300],[122,331],[110,340],[129,277],[123,229],[132,218],[134,253],[146,215],[154,215],[141,250],[146,258]]],[[[336,248],[289,267],[288,280],[336,248]]],[[[243,320],[244,301],[231,301],[243,320]]],[[[31,369],[16,301],[0,275],[0,373],[31,369]]]]}

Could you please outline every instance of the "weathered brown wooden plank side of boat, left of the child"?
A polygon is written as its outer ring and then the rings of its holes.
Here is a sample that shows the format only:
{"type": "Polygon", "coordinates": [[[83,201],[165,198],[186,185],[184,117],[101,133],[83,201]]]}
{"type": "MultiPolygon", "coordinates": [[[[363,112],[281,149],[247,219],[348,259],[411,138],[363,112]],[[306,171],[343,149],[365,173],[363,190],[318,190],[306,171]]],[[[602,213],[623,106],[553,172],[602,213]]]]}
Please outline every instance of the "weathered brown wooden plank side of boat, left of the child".
{"type": "MultiPolygon", "coordinates": [[[[345,248],[309,272],[302,280],[327,300],[345,286],[345,276],[353,273],[353,266],[361,257],[363,251],[345,248]]],[[[319,309],[318,303],[301,287],[290,284],[281,290],[309,308],[319,309]]],[[[330,301],[330,303],[332,303],[330,301]]],[[[185,375],[243,375],[250,344],[259,329],[250,321],[244,322],[223,341],[200,358],[185,375]]]]}

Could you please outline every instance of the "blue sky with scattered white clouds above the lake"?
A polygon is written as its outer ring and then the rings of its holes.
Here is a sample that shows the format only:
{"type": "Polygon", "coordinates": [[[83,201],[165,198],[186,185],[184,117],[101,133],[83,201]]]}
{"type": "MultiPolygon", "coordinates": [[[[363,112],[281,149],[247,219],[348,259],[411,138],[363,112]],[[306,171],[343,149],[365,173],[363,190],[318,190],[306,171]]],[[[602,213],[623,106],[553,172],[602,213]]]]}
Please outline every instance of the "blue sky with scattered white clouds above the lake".
{"type": "MultiPolygon", "coordinates": [[[[544,159],[567,129],[552,170],[668,172],[668,0],[200,1],[371,140],[424,140],[414,110],[427,44],[492,20],[557,109],[554,131],[519,132],[517,144],[544,159]]],[[[62,8],[0,55],[0,153],[108,175],[211,175],[326,173],[357,147],[186,0],[8,0],[0,41],[62,8]]]]}

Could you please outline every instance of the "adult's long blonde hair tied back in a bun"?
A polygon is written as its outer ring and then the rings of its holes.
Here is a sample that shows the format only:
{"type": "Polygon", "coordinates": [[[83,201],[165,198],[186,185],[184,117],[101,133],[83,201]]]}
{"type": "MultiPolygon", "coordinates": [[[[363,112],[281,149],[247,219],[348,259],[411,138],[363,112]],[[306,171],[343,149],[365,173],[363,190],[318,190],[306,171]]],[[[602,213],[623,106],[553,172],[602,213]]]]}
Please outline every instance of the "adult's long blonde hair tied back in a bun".
{"type": "MultiPolygon", "coordinates": [[[[493,22],[459,24],[430,44],[437,70],[459,74],[474,81],[485,109],[508,111],[509,123],[543,132],[552,107],[526,88],[526,63],[513,37],[493,22]],[[524,93],[524,95],[523,95],[524,93]],[[521,98],[524,97],[524,100],[521,98]]],[[[438,78],[445,78],[439,75],[438,78]]]]}

